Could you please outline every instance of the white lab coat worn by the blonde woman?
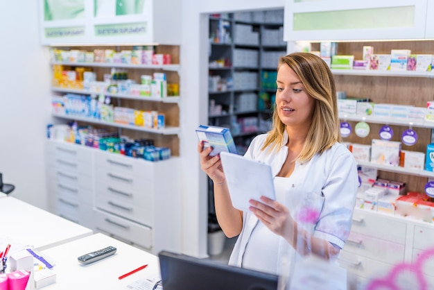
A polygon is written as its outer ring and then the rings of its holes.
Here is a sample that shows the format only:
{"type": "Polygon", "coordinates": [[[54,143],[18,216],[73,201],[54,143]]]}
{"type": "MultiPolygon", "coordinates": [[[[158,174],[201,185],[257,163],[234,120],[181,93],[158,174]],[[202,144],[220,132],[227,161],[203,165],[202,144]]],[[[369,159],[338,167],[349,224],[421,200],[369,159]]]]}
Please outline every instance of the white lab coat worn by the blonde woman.
{"type": "MultiPolygon", "coordinates": [[[[270,164],[272,176],[276,176],[286,160],[288,147],[280,146],[272,153],[261,151],[265,140],[266,134],[255,137],[244,156],[270,164]]],[[[285,132],[283,144],[286,144],[287,140],[288,135],[285,132]]],[[[314,237],[325,239],[342,248],[351,230],[358,187],[357,166],[351,152],[342,144],[336,143],[321,155],[315,155],[309,162],[296,162],[289,178],[290,196],[285,198],[284,205],[288,207],[291,216],[297,220],[299,226],[313,232],[314,237]],[[318,213],[313,224],[300,220],[300,213],[306,207],[318,213]]],[[[257,223],[258,219],[252,212],[243,212],[243,230],[229,258],[230,265],[243,266],[245,248],[257,223]]],[[[267,250],[266,247],[263,250],[267,250]]],[[[250,253],[253,254],[252,251],[250,253]]],[[[279,262],[276,268],[268,272],[278,275],[281,273],[282,259],[300,259],[281,237],[277,255],[279,262]]]]}

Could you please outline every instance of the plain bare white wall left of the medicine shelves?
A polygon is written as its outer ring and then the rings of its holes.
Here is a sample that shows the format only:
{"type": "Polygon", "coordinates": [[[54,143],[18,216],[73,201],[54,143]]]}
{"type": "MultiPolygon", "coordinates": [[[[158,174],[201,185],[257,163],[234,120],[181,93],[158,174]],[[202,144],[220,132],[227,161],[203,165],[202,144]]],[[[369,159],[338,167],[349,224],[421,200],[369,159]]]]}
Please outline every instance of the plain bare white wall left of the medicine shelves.
{"type": "Polygon", "coordinates": [[[37,3],[8,1],[0,9],[0,172],[15,185],[13,196],[46,208],[50,78],[37,3]]]}

